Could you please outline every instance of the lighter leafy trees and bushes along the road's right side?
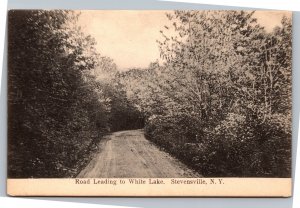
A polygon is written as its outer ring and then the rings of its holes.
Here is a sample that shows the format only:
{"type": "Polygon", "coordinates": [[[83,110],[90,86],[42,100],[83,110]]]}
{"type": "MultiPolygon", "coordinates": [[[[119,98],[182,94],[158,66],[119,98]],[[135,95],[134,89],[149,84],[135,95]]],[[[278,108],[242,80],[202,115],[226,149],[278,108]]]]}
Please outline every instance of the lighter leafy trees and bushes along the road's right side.
{"type": "Polygon", "coordinates": [[[164,63],[128,84],[147,138],[204,176],[289,177],[291,20],[267,32],[253,12],[167,16],[164,63]]]}

